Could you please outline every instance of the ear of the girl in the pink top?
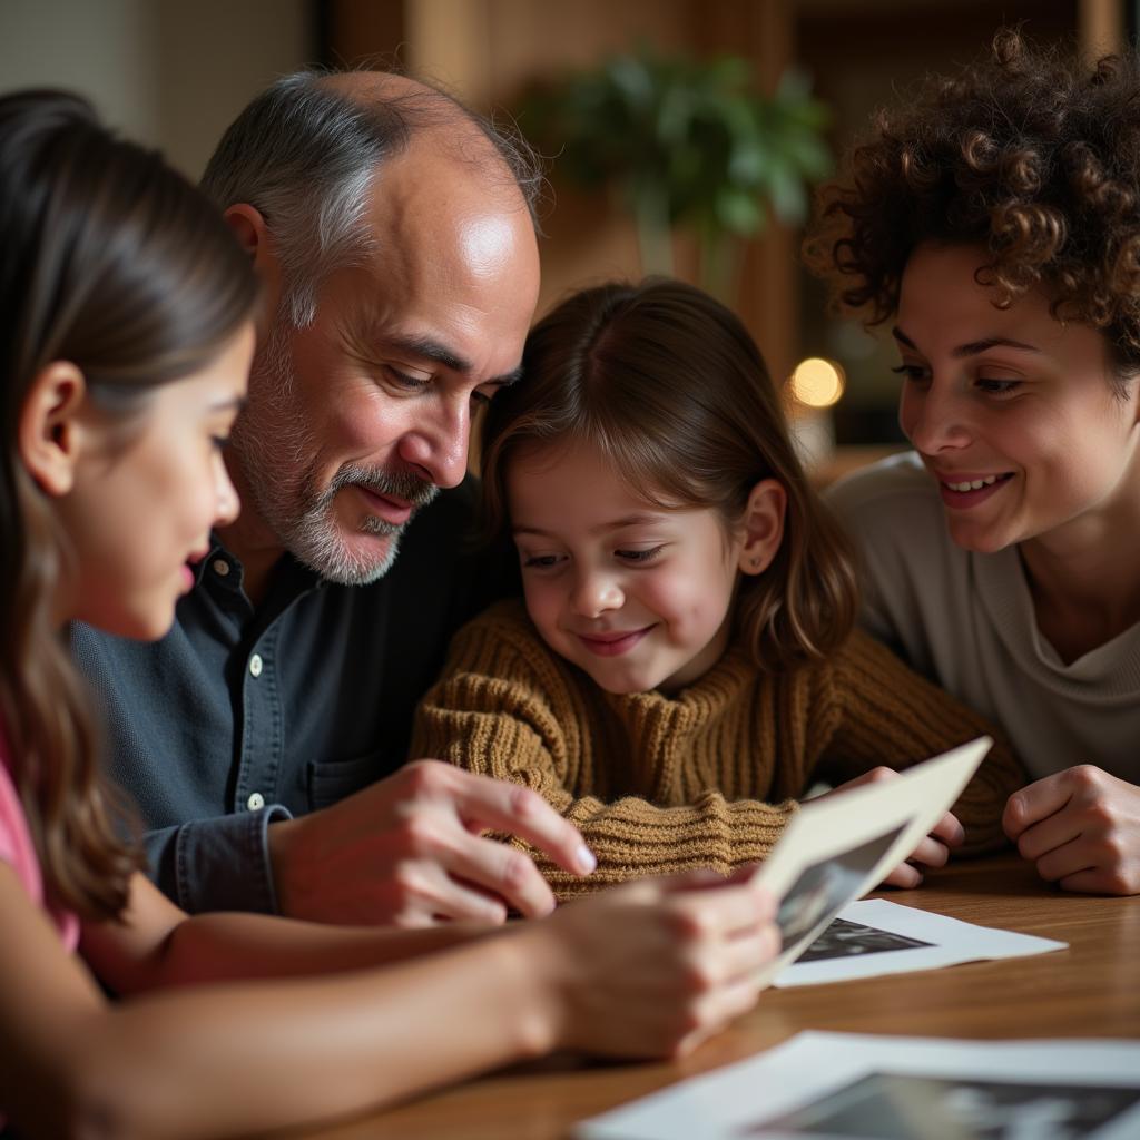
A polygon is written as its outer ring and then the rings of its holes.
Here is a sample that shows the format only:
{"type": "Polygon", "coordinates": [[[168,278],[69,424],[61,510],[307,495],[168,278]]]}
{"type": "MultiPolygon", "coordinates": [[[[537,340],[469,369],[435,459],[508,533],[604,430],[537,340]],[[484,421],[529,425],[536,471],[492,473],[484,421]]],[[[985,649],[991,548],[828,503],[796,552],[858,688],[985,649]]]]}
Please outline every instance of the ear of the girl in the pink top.
{"type": "Polygon", "coordinates": [[[19,457],[48,495],[66,495],[75,481],[85,397],[83,373],[67,360],[54,360],[43,368],[24,397],[17,435],[19,457]]]}

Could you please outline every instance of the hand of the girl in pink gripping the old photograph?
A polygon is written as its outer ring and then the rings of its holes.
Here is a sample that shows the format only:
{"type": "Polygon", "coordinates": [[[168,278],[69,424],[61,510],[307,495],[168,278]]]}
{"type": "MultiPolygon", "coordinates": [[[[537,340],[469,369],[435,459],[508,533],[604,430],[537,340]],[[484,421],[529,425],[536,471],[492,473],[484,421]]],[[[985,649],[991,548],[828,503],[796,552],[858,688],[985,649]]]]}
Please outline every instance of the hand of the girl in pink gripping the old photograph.
{"type": "Polygon", "coordinates": [[[528,923],[554,1048],[677,1057],[756,1003],[780,948],[775,906],[744,874],[643,879],[528,923]]]}

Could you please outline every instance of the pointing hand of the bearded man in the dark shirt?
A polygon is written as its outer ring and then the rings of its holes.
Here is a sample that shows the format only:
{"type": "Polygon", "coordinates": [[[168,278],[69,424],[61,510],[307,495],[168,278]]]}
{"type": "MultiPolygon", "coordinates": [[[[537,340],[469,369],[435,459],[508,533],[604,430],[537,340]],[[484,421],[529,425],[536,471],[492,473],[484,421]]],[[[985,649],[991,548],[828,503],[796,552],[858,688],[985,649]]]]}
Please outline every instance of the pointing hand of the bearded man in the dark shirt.
{"type": "Polygon", "coordinates": [[[483,838],[519,836],[577,874],[594,857],[537,792],[438,760],[416,760],[340,804],[269,826],[282,913],[317,922],[503,922],[554,909],[530,857],[483,838]]]}

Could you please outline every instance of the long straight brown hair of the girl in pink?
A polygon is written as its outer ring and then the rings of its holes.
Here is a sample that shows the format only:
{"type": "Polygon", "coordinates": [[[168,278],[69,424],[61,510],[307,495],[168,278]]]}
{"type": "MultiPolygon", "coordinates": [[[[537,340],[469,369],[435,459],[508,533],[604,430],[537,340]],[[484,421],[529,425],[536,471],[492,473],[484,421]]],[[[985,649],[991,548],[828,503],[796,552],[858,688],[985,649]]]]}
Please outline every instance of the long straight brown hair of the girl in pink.
{"type": "Polygon", "coordinates": [[[124,421],[201,368],[251,315],[256,286],[214,209],[83,99],[0,98],[0,733],[48,902],[119,914],[136,848],[98,775],[98,733],[52,606],[67,536],[21,462],[26,393],[56,360],[124,421]]]}

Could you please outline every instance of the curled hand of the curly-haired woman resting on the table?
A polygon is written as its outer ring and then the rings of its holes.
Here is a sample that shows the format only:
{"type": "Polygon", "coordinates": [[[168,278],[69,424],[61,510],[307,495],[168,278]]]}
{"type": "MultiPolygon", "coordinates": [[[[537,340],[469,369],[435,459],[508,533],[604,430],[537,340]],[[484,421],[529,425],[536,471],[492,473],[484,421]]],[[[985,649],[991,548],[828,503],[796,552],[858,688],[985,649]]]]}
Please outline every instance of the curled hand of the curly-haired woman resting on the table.
{"type": "Polygon", "coordinates": [[[1140,788],[1091,764],[1013,792],[1005,834],[1047,882],[1102,895],[1140,894],[1140,788]]]}

